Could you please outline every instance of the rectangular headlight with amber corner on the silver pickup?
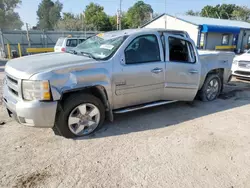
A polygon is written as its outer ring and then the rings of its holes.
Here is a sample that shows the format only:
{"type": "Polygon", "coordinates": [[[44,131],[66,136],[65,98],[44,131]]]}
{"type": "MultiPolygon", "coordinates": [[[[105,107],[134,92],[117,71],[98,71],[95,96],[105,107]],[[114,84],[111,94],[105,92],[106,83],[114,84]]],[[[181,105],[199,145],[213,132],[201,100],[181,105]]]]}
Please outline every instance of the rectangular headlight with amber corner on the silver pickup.
{"type": "Polygon", "coordinates": [[[49,81],[23,80],[22,94],[23,99],[28,101],[48,101],[52,99],[49,81]]]}

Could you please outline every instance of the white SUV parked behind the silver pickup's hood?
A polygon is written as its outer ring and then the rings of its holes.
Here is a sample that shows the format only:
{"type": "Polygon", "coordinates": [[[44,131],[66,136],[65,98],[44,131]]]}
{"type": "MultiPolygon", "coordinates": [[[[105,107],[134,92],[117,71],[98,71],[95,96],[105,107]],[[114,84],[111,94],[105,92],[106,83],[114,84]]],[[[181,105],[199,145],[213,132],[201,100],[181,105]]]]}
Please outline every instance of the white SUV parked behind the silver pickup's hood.
{"type": "Polygon", "coordinates": [[[60,37],[54,47],[55,52],[69,52],[78,44],[84,42],[85,38],[60,37]]]}

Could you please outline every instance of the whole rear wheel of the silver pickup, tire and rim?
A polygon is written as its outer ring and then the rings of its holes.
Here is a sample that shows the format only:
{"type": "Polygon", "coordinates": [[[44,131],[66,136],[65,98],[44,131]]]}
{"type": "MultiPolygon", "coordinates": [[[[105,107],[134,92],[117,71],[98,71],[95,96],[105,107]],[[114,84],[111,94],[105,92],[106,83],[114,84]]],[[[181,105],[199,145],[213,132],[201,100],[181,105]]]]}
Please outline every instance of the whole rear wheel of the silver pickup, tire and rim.
{"type": "Polygon", "coordinates": [[[213,101],[221,92],[222,82],[217,74],[208,75],[202,89],[200,90],[200,98],[202,101],[213,101]]]}

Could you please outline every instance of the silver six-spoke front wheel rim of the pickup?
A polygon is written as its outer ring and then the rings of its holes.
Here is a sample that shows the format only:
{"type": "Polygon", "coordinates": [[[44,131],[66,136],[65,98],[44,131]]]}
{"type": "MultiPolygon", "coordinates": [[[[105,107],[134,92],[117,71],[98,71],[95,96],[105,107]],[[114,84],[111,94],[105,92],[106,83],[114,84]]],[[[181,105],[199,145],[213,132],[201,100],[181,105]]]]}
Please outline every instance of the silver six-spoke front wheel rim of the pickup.
{"type": "Polygon", "coordinates": [[[84,103],[74,108],[68,118],[69,130],[83,136],[93,132],[100,122],[99,109],[90,103],[84,103]]]}

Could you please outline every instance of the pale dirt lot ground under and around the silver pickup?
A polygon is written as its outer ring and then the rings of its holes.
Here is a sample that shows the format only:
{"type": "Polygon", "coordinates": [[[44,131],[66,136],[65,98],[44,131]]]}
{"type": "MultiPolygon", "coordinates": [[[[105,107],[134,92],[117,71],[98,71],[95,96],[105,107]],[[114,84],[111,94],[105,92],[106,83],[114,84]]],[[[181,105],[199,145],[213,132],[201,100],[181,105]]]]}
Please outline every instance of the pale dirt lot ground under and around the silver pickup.
{"type": "Polygon", "coordinates": [[[250,83],[237,80],[214,102],[115,116],[77,140],[18,125],[1,106],[0,187],[250,187],[249,113],[250,83]]]}

